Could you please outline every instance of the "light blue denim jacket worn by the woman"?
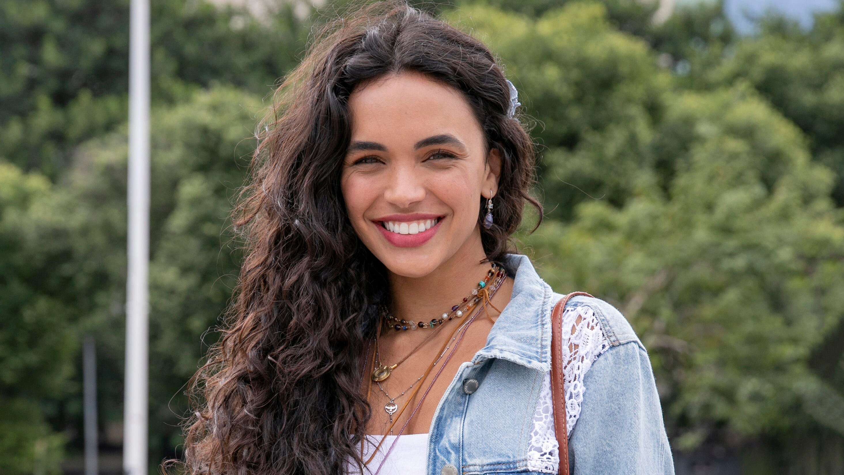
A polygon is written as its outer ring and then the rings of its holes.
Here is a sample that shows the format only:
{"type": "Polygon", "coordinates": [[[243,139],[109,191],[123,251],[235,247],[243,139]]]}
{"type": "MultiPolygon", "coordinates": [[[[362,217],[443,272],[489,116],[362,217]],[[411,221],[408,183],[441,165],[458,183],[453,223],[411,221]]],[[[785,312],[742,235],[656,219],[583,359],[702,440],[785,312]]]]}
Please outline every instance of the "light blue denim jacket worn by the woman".
{"type": "MultiPolygon", "coordinates": [[[[544,376],[551,369],[551,321],[563,296],[551,290],[527,256],[507,254],[515,285],[486,346],[463,363],[430,426],[428,475],[536,473],[527,451],[544,376]],[[479,381],[470,394],[468,379],[479,381]]],[[[584,290],[584,289],[578,289],[584,290]]],[[[569,437],[573,475],[674,473],[651,363],[627,320],[598,298],[592,308],[610,347],[592,363],[580,417],[569,437]]]]}

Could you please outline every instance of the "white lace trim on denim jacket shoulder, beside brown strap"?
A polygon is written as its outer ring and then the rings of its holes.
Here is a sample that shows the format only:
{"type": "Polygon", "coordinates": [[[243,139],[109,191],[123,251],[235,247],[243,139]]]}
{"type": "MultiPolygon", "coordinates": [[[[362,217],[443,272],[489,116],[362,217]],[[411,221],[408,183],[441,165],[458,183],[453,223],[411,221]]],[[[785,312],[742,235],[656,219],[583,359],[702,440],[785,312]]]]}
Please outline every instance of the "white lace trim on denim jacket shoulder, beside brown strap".
{"type": "MultiPolygon", "coordinates": [[[[563,313],[563,363],[565,369],[565,422],[568,434],[580,417],[583,377],[592,363],[609,348],[601,324],[592,308],[570,307],[563,313]],[[568,331],[565,331],[568,329],[568,331]]],[[[534,472],[557,473],[560,467],[560,444],[554,433],[554,407],[551,401],[551,375],[545,374],[536,412],[533,413],[533,432],[527,450],[527,468],[534,472]]]]}

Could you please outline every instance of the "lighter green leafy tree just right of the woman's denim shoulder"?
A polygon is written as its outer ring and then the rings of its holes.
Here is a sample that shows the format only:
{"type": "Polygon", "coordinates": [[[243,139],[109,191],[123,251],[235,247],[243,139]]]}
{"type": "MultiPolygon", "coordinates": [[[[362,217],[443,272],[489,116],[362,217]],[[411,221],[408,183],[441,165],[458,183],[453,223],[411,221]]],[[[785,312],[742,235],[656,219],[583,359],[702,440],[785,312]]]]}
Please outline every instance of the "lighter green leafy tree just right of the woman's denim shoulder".
{"type": "Polygon", "coordinates": [[[844,227],[832,173],[749,88],[679,93],[654,141],[674,157],[668,194],[579,205],[528,242],[563,291],[589,289],[648,347],[674,447],[784,436],[814,418],[807,361],[844,304],[844,227]],[[669,146],[673,144],[674,146],[669,146]]]}

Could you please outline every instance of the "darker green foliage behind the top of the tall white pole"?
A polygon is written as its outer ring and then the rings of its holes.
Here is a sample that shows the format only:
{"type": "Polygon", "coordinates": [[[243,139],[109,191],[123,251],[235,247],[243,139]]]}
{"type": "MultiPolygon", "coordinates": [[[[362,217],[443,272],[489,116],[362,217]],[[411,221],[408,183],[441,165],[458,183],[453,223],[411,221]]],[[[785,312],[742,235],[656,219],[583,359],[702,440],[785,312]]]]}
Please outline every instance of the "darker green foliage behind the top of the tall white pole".
{"type": "MultiPolygon", "coordinates": [[[[74,146],[126,120],[128,4],[0,3],[0,156],[56,179],[74,146]]],[[[256,19],[198,0],[152,2],[153,100],[179,101],[215,82],[266,94],[307,33],[281,5],[256,19]]]]}

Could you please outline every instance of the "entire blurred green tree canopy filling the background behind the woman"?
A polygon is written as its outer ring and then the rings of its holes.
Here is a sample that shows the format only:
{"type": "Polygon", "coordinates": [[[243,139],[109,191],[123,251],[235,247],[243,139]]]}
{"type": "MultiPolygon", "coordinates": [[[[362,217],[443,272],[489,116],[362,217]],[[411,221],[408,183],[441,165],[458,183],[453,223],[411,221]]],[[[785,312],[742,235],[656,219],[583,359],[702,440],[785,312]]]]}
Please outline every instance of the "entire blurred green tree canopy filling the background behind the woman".
{"type": "MultiPolygon", "coordinates": [[[[340,6],[282,4],[153,3],[153,467],[235,284],[257,118],[340,6]]],[[[78,457],[85,334],[101,429],[122,419],[127,7],[0,3],[3,473],[78,457]]],[[[505,64],[542,155],[546,221],[520,248],[630,319],[678,472],[844,472],[844,11],[739,36],[717,2],[658,25],[635,0],[424,7],[505,64]]]]}

